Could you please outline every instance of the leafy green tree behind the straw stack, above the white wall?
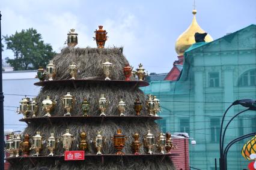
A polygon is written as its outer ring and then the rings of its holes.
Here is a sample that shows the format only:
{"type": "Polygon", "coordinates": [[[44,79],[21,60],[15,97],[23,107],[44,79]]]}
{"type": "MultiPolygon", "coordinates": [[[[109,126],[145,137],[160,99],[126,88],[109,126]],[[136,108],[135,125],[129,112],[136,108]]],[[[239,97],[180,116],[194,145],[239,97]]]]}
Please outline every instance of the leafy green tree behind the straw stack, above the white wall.
{"type": "Polygon", "coordinates": [[[50,44],[44,43],[41,34],[36,29],[29,28],[8,37],[4,36],[7,49],[12,50],[14,59],[7,59],[7,63],[14,70],[38,69],[46,66],[55,55],[50,44]]]}

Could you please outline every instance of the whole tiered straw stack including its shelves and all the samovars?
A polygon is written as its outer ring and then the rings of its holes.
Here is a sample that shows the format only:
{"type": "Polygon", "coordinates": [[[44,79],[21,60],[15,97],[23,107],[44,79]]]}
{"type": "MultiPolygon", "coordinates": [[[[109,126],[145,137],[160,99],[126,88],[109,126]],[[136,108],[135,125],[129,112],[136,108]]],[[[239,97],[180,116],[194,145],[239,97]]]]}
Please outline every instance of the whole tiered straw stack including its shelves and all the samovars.
{"type": "Polygon", "coordinates": [[[149,84],[145,68],[133,71],[123,48],[104,48],[102,26],[95,34],[97,48],[78,48],[72,29],[69,47],[38,69],[40,93],[20,102],[26,136],[7,141],[11,169],[175,169],[170,140],[154,122],[159,99],[139,89],[149,84]],[[72,151],[85,160],[65,161],[72,151]]]}

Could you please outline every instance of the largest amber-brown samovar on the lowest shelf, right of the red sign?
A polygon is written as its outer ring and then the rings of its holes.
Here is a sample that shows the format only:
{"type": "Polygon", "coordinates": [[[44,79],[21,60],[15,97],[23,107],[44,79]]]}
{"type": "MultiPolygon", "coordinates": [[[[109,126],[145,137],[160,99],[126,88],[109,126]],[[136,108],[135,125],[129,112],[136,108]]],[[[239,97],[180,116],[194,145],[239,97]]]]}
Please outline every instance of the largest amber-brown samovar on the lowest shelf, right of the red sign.
{"type": "Polygon", "coordinates": [[[126,144],[127,137],[121,131],[121,129],[117,130],[117,133],[111,139],[114,142],[114,147],[117,149],[117,153],[115,154],[124,154],[122,149],[124,148],[124,144],[126,144]]]}

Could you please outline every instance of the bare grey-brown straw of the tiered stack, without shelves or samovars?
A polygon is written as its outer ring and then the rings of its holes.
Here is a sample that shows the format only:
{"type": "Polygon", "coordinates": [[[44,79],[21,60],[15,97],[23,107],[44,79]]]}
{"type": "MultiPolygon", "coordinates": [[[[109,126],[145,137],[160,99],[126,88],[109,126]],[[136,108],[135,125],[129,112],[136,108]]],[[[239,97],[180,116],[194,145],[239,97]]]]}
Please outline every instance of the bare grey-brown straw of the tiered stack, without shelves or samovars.
{"type": "MultiPolygon", "coordinates": [[[[124,80],[123,67],[127,63],[126,58],[123,56],[123,48],[64,48],[61,53],[53,58],[53,63],[56,65],[56,80],[68,80],[70,73],[68,66],[75,62],[79,67],[78,78],[97,77],[98,79],[104,79],[102,63],[106,62],[114,63],[115,66],[111,72],[110,78],[112,80],[124,80]]],[[[56,101],[54,110],[50,113],[52,116],[63,116],[66,111],[61,102],[61,97],[70,92],[71,95],[75,96],[75,102],[73,110],[71,111],[72,116],[82,116],[81,103],[84,98],[87,98],[90,102],[90,111],[88,115],[99,116],[99,98],[100,95],[104,94],[106,99],[109,101],[106,115],[118,116],[117,104],[120,98],[123,98],[126,102],[127,108],[124,114],[135,115],[133,110],[133,103],[136,98],[139,98],[142,102],[143,109],[142,115],[148,115],[145,109],[145,96],[144,93],[138,89],[138,87],[115,86],[106,84],[85,84],[80,87],[70,86],[45,86],[41,89],[37,96],[39,103],[39,111],[37,116],[44,116],[45,111],[41,110],[41,101],[46,98],[46,95],[50,95],[52,99],[56,101]]],[[[60,138],[65,133],[65,129],[70,129],[70,133],[74,135],[75,140],[73,141],[71,150],[79,150],[78,144],[80,142],[80,133],[87,133],[88,148],[85,154],[96,154],[96,148],[91,143],[91,139],[96,137],[97,130],[102,131],[102,135],[106,137],[106,144],[103,147],[103,154],[115,154],[116,150],[112,142],[111,137],[117,132],[117,129],[121,129],[122,132],[127,136],[127,141],[123,151],[125,154],[132,154],[130,144],[133,142],[132,134],[138,132],[140,140],[142,142],[142,136],[147,133],[150,129],[151,132],[158,136],[160,130],[157,124],[151,119],[138,120],[128,119],[123,121],[117,120],[104,120],[103,122],[81,122],[81,121],[69,121],[64,122],[61,118],[56,123],[43,123],[34,122],[30,123],[25,129],[24,133],[28,133],[30,136],[34,136],[35,132],[40,131],[44,139],[49,138],[50,133],[54,133],[56,138],[60,138]]],[[[140,152],[146,153],[146,148],[141,147],[140,152]]],[[[154,153],[159,153],[156,147],[153,148],[154,153]]],[[[33,154],[31,151],[30,154],[33,154]]],[[[56,145],[55,155],[62,155],[64,149],[62,148],[62,142],[58,142],[56,145]]],[[[44,144],[40,154],[47,156],[49,151],[44,144]]],[[[132,157],[118,158],[118,159],[105,159],[104,163],[98,159],[87,159],[80,162],[63,162],[61,160],[41,160],[32,163],[26,162],[25,160],[20,161],[19,164],[11,165],[10,169],[38,169],[42,166],[48,169],[175,169],[171,160],[168,157],[162,159],[161,157],[150,158],[150,159],[133,159],[132,157]]]]}

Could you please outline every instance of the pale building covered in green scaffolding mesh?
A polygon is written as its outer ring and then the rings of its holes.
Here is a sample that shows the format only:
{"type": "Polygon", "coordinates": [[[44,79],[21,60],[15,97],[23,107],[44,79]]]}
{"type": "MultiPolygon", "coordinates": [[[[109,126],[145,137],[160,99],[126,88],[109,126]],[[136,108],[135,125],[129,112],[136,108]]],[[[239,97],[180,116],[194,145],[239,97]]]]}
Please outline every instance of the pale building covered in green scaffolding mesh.
{"type": "MultiPolygon", "coordinates": [[[[195,18],[195,17],[194,17],[195,18]]],[[[193,23],[192,23],[193,24],[193,23]]],[[[211,42],[192,44],[183,53],[183,69],[175,81],[151,81],[142,88],[161,100],[163,131],[187,132],[197,141],[190,145],[190,166],[219,167],[219,129],[222,115],[237,99],[256,99],[256,25],[250,25],[211,42]]],[[[244,110],[234,106],[225,123],[244,110]]],[[[247,111],[233,120],[225,144],[256,131],[256,112],[247,111]]],[[[247,169],[238,142],[228,152],[228,169],[247,169]]]]}

